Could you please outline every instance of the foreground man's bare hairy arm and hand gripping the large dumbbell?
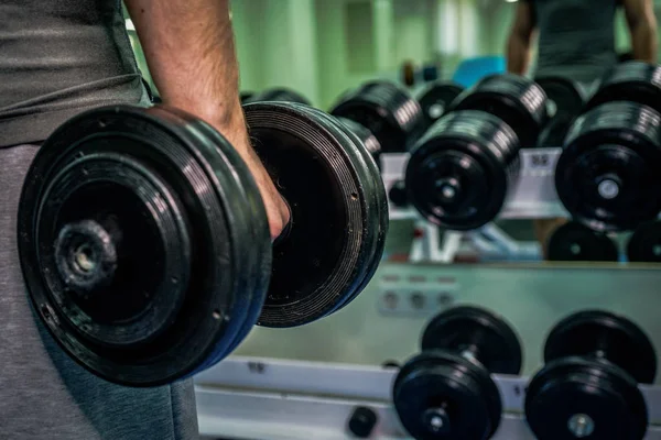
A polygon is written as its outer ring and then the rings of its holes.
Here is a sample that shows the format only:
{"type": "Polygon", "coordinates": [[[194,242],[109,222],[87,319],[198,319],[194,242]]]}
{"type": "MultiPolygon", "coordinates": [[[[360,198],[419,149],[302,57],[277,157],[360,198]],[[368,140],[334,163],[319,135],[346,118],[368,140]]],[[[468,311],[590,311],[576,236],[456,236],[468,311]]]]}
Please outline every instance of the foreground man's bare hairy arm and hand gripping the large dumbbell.
{"type": "Polygon", "coordinates": [[[278,237],[289,221],[289,209],[246,130],[229,0],[124,3],[163,102],[210,123],[234,145],[260,187],[271,237],[278,237]]]}

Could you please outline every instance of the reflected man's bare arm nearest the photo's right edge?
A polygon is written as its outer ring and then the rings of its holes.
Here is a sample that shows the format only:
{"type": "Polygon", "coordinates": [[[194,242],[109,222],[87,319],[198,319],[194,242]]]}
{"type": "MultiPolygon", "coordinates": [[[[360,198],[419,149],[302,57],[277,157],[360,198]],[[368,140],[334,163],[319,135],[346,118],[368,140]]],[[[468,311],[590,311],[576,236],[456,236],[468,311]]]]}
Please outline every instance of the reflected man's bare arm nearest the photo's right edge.
{"type": "Polygon", "coordinates": [[[633,58],[657,63],[657,18],[652,0],[622,0],[633,58]]]}

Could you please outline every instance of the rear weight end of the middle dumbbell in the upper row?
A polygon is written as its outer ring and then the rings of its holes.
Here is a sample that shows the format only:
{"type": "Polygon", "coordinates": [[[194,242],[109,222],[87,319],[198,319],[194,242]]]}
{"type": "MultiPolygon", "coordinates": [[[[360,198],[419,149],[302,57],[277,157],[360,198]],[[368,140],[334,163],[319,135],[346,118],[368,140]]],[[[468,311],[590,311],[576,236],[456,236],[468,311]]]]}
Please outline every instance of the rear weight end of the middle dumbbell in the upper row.
{"type": "Polygon", "coordinates": [[[451,111],[480,110],[501,119],[517,133],[521,146],[537,144],[546,123],[546,96],[534,81],[521,76],[492,75],[467,89],[451,111]]]}

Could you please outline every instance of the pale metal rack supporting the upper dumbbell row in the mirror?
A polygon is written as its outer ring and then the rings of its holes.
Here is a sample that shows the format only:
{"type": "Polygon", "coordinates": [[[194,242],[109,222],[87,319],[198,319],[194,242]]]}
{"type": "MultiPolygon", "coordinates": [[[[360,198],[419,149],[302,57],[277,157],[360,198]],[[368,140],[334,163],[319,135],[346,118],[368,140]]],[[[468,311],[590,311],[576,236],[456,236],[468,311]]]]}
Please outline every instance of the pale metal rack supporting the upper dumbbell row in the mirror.
{"type": "MultiPolygon", "coordinates": [[[[519,153],[521,172],[510,198],[499,215],[500,219],[542,219],[568,217],[555,191],[555,163],[562,148],[522,148],[519,153]]],[[[404,178],[409,160],[408,153],[390,153],[381,156],[381,176],[386,190],[404,178]]],[[[414,220],[421,233],[413,240],[410,261],[451,263],[459,251],[463,240],[479,250],[484,258],[539,260],[540,245],[537,242],[517,242],[489,223],[478,230],[458,232],[445,231],[424,220],[414,208],[398,208],[390,204],[390,220],[414,220]]]]}

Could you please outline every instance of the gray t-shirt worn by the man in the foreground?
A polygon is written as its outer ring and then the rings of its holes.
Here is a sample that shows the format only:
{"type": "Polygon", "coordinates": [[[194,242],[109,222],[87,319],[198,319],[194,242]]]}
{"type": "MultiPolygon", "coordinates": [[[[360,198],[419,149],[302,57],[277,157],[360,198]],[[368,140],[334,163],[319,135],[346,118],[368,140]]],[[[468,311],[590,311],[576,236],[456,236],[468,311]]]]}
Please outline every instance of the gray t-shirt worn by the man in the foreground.
{"type": "Polygon", "coordinates": [[[120,0],[0,1],[0,147],[94,107],[149,101],[120,0]]]}

